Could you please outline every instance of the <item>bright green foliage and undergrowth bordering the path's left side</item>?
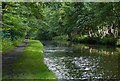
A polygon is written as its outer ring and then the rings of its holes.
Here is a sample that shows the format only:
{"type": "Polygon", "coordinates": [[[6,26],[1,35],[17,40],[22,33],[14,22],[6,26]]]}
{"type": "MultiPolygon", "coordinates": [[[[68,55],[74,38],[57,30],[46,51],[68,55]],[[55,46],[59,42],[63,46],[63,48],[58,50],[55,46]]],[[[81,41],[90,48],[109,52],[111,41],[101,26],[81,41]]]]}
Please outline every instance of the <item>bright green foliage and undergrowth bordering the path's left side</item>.
{"type": "Polygon", "coordinates": [[[3,2],[2,50],[19,45],[25,38],[34,39],[43,22],[42,3],[3,2]]]}

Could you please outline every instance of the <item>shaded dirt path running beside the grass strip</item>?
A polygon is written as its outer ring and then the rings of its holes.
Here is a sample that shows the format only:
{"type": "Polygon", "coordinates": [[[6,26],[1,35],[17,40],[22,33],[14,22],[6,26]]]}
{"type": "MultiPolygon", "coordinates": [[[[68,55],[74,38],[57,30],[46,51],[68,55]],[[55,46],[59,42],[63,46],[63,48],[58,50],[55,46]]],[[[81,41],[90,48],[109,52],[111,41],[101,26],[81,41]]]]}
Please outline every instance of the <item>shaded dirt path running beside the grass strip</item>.
{"type": "Polygon", "coordinates": [[[8,75],[12,74],[12,73],[9,73],[11,72],[10,70],[12,70],[12,67],[10,65],[15,63],[15,60],[20,57],[20,55],[22,54],[24,50],[24,47],[28,45],[28,42],[29,41],[26,41],[22,43],[21,45],[15,47],[13,49],[14,51],[8,50],[2,53],[2,75],[3,76],[4,74],[8,74],[8,75]],[[6,70],[7,71],[9,70],[9,72],[5,72],[6,70]]]}

